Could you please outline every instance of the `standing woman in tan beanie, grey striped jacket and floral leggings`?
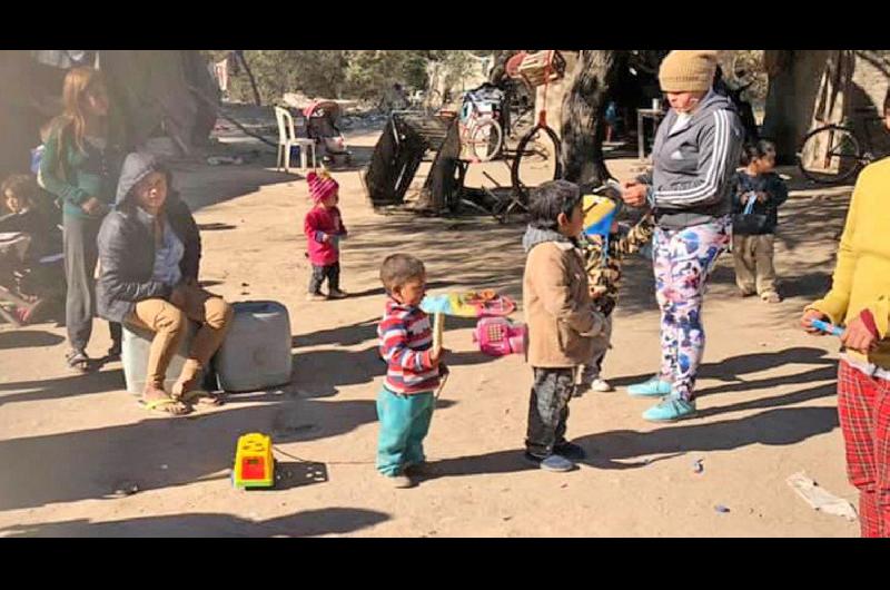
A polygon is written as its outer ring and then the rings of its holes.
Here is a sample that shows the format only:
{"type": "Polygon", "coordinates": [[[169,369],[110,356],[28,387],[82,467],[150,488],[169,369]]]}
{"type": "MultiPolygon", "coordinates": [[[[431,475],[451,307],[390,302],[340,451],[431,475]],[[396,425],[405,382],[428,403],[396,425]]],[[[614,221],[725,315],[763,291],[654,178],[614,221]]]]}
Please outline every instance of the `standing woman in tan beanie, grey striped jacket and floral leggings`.
{"type": "Polygon", "coordinates": [[[705,285],[732,239],[730,185],[744,131],[732,102],[711,89],[715,70],[715,51],[675,50],[664,59],[659,81],[671,111],[655,134],[654,168],[624,183],[624,201],[635,207],[647,201],[655,214],[661,370],[627,390],[636,396],[662,396],[643,413],[654,422],[695,413],[705,285]]]}

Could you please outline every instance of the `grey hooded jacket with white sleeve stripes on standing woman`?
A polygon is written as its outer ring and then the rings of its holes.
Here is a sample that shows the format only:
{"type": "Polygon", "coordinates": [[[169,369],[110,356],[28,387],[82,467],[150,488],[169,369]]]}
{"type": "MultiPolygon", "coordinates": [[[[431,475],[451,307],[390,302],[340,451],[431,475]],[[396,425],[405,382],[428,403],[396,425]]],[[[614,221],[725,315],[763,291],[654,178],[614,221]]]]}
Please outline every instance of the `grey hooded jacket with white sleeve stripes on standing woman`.
{"type": "Polygon", "coordinates": [[[730,214],[731,180],[739,166],[744,130],[735,107],[709,92],[689,124],[672,132],[671,110],[652,147],[654,170],[640,177],[650,185],[655,222],[665,229],[701,225],[730,214]]]}

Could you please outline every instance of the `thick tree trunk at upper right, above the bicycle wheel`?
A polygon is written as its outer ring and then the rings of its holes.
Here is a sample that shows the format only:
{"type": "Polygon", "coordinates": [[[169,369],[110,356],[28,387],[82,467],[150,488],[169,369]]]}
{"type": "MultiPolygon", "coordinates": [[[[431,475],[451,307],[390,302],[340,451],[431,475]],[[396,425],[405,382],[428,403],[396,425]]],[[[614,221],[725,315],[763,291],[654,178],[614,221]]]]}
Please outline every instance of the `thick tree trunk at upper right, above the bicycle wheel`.
{"type": "Polygon", "coordinates": [[[850,51],[768,50],[770,77],[763,137],[775,142],[778,159],[791,164],[800,141],[817,122],[839,122],[852,75],[850,51]]]}

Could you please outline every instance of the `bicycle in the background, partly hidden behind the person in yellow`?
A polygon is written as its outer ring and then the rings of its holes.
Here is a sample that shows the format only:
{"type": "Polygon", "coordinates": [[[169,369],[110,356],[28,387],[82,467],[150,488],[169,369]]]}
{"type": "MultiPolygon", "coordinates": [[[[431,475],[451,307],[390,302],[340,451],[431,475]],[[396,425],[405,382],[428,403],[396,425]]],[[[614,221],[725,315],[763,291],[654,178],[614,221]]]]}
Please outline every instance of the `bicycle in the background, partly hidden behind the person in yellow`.
{"type": "Polygon", "coordinates": [[[841,184],[888,154],[876,154],[869,122],[881,121],[873,107],[854,109],[860,115],[841,125],[824,125],[803,137],[798,149],[798,167],[813,183],[820,185],[841,184]],[[871,115],[871,116],[866,116],[871,115]],[[859,124],[862,132],[857,132],[859,124]],[[864,147],[864,149],[863,149],[864,147]]]}

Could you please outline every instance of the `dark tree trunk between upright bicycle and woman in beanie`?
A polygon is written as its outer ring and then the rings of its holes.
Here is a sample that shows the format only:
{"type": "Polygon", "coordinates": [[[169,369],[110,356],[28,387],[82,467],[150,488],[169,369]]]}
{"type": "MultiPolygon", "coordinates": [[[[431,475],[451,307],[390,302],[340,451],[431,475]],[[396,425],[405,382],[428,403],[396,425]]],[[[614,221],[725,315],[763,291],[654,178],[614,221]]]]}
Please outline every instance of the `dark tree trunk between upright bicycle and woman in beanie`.
{"type": "Polygon", "coordinates": [[[600,185],[611,178],[603,158],[606,98],[614,85],[623,51],[583,50],[570,90],[563,99],[563,177],[600,185]]]}

